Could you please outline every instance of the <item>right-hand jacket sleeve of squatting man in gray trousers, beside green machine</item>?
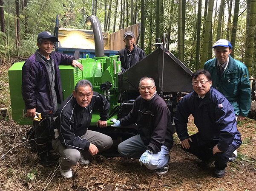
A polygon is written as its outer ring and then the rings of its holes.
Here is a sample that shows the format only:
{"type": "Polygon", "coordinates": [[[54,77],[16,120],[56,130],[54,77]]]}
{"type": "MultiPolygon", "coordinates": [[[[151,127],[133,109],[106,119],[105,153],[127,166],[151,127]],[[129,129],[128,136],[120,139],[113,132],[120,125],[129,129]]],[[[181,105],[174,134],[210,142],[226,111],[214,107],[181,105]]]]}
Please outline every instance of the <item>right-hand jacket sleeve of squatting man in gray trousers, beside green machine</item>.
{"type": "Polygon", "coordinates": [[[107,118],[109,117],[109,107],[110,104],[106,100],[106,98],[99,94],[98,92],[93,92],[93,101],[94,101],[94,106],[93,110],[99,110],[100,111],[100,120],[101,121],[106,121],[107,118]]]}

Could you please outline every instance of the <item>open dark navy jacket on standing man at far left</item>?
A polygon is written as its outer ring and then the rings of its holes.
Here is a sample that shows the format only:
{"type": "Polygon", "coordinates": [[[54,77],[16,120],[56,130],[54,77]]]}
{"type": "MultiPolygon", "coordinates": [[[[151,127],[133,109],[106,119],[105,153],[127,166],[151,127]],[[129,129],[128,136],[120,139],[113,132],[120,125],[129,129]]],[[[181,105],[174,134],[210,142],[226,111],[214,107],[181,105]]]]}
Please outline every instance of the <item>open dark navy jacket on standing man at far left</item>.
{"type": "MultiPolygon", "coordinates": [[[[55,63],[55,91],[58,103],[63,101],[59,65],[72,65],[74,56],[51,53],[55,63]]],[[[36,108],[43,117],[54,115],[54,103],[46,64],[38,50],[26,60],[22,67],[21,93],[26,109],[36,108]]]]}

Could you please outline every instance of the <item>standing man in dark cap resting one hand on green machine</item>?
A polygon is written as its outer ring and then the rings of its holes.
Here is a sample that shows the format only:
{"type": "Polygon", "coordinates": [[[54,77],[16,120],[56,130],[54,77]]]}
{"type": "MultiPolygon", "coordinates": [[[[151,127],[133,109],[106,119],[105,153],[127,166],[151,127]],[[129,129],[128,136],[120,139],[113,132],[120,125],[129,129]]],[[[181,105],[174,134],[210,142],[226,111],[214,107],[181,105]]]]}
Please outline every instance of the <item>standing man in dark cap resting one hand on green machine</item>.
{"type": "Polygon", "coordinates": [[[38,49],[22,67],[22,96],[26,115],[34,118],[41,113],[41,121],[33,121],[37,155],[43,166],[52,164],[47,143],[51,143],[52,116],[63,100],[59,65],[73,65],[82,70],[83,65],[74,56],[52,52],[58,38],[48,31],[37,37],[38,49]]]}

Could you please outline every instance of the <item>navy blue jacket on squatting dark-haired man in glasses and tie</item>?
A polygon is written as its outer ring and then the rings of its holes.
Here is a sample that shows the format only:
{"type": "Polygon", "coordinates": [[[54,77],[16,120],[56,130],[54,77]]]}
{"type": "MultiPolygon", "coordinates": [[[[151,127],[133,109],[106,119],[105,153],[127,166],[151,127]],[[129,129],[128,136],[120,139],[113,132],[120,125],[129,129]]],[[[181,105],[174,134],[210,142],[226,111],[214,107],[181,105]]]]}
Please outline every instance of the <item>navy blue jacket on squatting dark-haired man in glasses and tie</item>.
{"type": "Polygon", "coordinates": [[[175,114],[175,127],[178,138],[182,141],[190,137],[187,122],[190,114],[198,128],[198,144],[218,140],[218,149],[227,151],[232,143],[236,148],[241,144],[241,134],[236,127],[236,116],[233,107],[218,90],[210,88],[200,101],[194,91],[181,99],[175,114]]]}

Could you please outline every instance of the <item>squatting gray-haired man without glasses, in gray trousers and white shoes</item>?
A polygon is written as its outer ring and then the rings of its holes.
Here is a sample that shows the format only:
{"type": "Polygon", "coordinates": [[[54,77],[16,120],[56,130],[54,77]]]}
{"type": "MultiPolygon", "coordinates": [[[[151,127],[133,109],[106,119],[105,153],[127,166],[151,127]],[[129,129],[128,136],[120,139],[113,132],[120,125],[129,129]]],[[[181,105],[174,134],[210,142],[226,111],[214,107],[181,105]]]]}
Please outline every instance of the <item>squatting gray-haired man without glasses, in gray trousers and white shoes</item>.
{"type": "Polygon", "coordinates": [[[92,120],[92,110],[99,110],[97,126],[106,127],[109,103],[106,98],[93,92],[92,83],[81,80],[75,90],[58,108],[55,114],[55,138],[52,147],[60,154],[60,174],[72,177],[71,167],[78,161],[88,164],[89,157],[112,146],[112,138],[100,132],[87,130],[92,120]]]}

